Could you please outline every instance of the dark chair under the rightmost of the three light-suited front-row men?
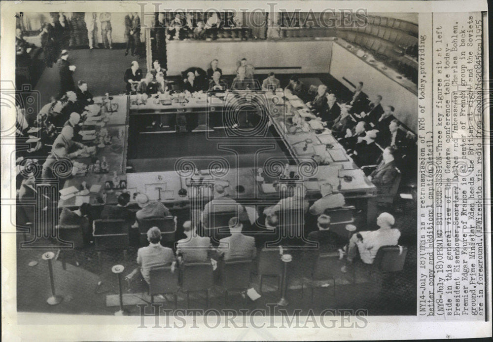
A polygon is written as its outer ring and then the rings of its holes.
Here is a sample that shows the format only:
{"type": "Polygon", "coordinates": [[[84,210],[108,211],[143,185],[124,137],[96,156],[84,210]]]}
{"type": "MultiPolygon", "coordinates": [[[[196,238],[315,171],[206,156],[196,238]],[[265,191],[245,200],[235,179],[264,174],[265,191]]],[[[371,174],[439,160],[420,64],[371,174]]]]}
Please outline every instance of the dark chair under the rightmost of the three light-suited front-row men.
{"type": "Polygon", "coordinates": [[[251,260],[225,261],[221,267],[224,301],[228,304],[228,292],[244,292],[250,285],[251,260]]]}

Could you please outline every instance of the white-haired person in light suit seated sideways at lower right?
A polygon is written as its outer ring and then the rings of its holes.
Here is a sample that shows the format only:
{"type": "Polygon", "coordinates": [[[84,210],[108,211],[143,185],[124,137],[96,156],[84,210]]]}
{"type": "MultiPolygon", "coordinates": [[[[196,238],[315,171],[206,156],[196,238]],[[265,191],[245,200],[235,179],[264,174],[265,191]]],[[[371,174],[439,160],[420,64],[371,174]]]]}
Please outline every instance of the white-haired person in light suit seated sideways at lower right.
{"type": "MultiPolygon", "coordinates": [[[[359,257],[365,264],[373,264],[375,256],[380,247],[395,246],[399,241],[399,229],[392,228],[395,219],[389,213],[382,213],[377,218],[379,229],[372,231],[360,231],[352,235],[348,245],[348,263],[351,264],[359,251],[359,257]]],[[[347,271],[347,267],[341,268],[342,272],[347,271]]]]}

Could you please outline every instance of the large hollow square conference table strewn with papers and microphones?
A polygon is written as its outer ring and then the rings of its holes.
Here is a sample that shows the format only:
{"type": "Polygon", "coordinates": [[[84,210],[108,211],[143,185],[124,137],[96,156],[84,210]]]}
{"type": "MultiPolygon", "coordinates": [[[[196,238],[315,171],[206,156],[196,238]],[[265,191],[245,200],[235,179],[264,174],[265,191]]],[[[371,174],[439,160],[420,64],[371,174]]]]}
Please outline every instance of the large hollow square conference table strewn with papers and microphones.
{"type": "MultiPolygon", "coordinates": [[[[296,96],[272,91],[237,91],[218,96],[204,94],[184,102],[181,99],[181,103],[170,103],[169,98],[161,101],[164,97],[160,95],[147,99],[145,104],[141,101],[136,104],[138,98],[135,95],[114,96],[112,101],[118,104],[118,110],[102,114],[109,119],[106,119],[106,127],[110,134],[118,132],[121,137],[113,139],[111,146],[97,149],[96,157],[106,157],[110,172],[70,178],[64,188],[79,187],[84,181],[88,189],[100,184],[99,191],[89,194],[90,203],[95,205],[103,205],[96,201],[98,196],[106,197],[107,204],[115,204],[121,191],[145,192],[151,200],[159,200],[173,210],[189,207],[195,200],[197,191],[194,189],[198,184],[220,183],[227,185],[229,195],[242,204],[272,205],[280,198],[280,192],[273,190],[272,183],[279,181],[279,175],[287,168],[292,171],[295,182],[305,184],[308,199],[320,196],[323,183],[330,183],[347,199],[375,196],[376,187],[357,168],[330,130],[316,132],[304,120],[297,126],[292,124],[295,114],[308,113],[306,105],[296,96]],[[239,107],[242,110],[235,109],[239,107]],[[244,128],[242,124],[248,119],[240,112],[256,113],[259,122],[254,128],[244,128]],[[148,146],[144,146],[143,151],[137,149],[137,155],[127,162],[128,149],[135,149],[130,145],[136,142],[136,139],[129,140],[129,128],[132,130],[132,125],[145,119],[145,115],[158,115],[161,119],[172,115],[175,118],[186,115],[189,119],[195,115],[198,126],[191,132],[150,132],[151,140],[144,142],[148,146]],[[219,120],[217,115],[220,115],[219,120]],[[223,125],[211,129],[212,120],[223,125]],[[241,121],[239,128],[231,129],[231,120],[241,121]],[[172,143],[176,137],[192,145],[172,143]],[[159,150],[157,154],[156,150],[159,150]],[[318,165],[313,158],[316,154],[328,165],[318,165]],[[131,162],[135,165],[128,167],[131,162]],[[263,169],[263,181],[258,179],[259,168],[263,169]],[[104,183],[111,180],[113,171],[117,171],[119,180],[126,181],[126,190],[104,189],[104,183]]],[[[101,101],[101,98],[96,99],[96,102],[101,101]]],[[[97,131],[99,129],[96,127],[97,131]]],[[[78,161],[89,162],[88,158],[78,161]]],[[[59,207],[73,207],[76,201],[77,196],[60,200],[59,207]]]]}

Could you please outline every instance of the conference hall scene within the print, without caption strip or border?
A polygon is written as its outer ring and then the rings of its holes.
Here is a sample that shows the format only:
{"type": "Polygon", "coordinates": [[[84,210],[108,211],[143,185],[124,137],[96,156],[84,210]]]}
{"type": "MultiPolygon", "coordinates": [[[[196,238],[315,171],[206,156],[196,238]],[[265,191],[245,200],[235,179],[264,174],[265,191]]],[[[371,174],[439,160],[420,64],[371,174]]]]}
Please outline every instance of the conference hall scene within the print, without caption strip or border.
{"type": "Polygon", "coordinates": [[[155,13],[129,48],[126,16],[132,25],[138,15],[17,19],[17,310],[138,315],[137,304],[278,303],[305,314],[416,315],[418,15],[317,13],[337,23],[324,27],[307,24],[307,13],[264,13],[258,27],[259,13],[216,13],[214,22],[199,12],[155,13]],[[127,82],[132,65],[141,79],[127,82]],[[67,126],[72,150],[60,156],[67,126]],[[375,175],[387,158],[392,177],[382,183],[375,175]],[[327,191],[342,194],[344,205],[316,210],[327,191]],[[131,219],[103,219],[124,193],[131,219]],[[139,193],[170,215],[139,222],[139,193]],[[217,193],[238,207],[204,219],[217,193]],[[300,193],[308,202],[301,209],[268,210],[300,193]],[[64,226],[61,215],[78,215],[85,226],[64,226]],[[234,228],[254,238],[255,256],[230,265],[218,245],[233,217],[234,228]],[[211,237],[196,268],[176,252],[190,221],[211,237]],[[383,226],[396,229],[397,243],[378,245],[370,261],[348,259],[370,239],[366,232],[383,226]],[[139,267],[151,227],[161,230],[176,269],[161,265],[168,268],[153,274],[162,279],[134,286],[126,276],[139,267]],[[337,243],[313,247],[309,235],[327,229],[337,243]]]}

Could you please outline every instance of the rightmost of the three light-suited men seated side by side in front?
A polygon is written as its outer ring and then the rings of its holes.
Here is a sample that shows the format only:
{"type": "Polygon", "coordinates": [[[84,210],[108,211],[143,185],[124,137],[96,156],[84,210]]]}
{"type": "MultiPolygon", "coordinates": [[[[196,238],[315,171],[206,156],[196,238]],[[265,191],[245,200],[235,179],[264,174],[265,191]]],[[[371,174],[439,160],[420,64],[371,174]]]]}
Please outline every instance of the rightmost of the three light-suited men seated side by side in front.
{"type": "Polygon", "coordinates": [[[237,217],[231,218],[228,226],[231,236],[219,240],[218,254],[224,261],[254,259],[257,255],[255,239],[242,234],[243,225],[237,217]]]}

